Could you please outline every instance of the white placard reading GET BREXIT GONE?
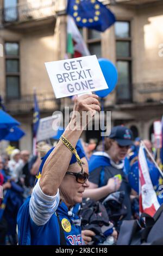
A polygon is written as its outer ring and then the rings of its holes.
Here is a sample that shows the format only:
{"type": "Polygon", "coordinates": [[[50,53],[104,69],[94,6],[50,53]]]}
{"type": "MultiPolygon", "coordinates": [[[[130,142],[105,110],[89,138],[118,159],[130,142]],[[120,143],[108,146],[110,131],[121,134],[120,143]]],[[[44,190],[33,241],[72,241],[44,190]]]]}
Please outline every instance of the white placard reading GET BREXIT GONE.
{"type": "Polygon", "coordinates": [[[108,89],[96,55],[45,65],[57,98],[108,89]]]}

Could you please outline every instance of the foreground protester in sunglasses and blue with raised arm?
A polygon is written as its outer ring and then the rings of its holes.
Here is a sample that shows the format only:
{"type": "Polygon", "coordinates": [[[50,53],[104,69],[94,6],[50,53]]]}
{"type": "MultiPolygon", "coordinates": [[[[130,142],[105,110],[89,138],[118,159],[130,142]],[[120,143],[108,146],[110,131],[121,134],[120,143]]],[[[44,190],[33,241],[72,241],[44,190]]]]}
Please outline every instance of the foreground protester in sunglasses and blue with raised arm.
{"type": "Polygon", "coordinates": [[[72,119],[61,140],[43,158],[32,196],[18,212],[19,245],[84,244],[77,212],[88,186],[88,165],[83,150],[77,145],[77,155],[73,147],[85,128],[81,126],[82,111],[90,111],[93,117],[95,109],[100,110],[97,99],[97,95],[75,99],[72,119]]]}

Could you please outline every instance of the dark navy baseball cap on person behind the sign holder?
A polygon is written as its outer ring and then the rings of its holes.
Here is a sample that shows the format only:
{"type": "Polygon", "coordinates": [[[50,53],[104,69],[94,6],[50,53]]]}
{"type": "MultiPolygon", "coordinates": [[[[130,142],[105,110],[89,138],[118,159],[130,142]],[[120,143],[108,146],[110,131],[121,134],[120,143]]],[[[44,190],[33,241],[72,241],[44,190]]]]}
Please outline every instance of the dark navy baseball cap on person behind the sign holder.
{"type": "Polygon", "coordinates": [[[109,138],[115,139],[115,141],[122,147],[133,144],[133,133],[126,126],[114,126],[111,129],[109,138]]]}

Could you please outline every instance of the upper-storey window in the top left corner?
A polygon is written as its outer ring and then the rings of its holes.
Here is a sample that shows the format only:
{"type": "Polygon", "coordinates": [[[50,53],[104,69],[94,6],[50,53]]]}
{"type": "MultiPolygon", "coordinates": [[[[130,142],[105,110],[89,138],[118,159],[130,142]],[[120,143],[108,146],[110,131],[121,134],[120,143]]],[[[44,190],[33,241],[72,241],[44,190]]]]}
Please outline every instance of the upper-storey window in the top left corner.
{"type": "Polygon", "coordinates": [[[17,21],[18,11],[17,11],[17,0],[4,0],[3,1],[3,19],[4,22],[17,21]]]}

